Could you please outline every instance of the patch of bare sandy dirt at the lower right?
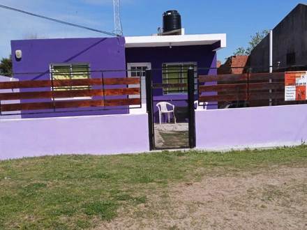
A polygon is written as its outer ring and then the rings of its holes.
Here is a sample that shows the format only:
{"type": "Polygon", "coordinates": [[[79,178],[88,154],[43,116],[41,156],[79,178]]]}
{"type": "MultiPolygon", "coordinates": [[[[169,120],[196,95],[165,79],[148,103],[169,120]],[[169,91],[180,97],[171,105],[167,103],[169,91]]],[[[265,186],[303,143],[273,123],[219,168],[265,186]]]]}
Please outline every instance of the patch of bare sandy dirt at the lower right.
{"type": "Polygon", "coordinates": [[[171,185],[97,229],[307,229],[307,168],[230,171],[171,185]]]}

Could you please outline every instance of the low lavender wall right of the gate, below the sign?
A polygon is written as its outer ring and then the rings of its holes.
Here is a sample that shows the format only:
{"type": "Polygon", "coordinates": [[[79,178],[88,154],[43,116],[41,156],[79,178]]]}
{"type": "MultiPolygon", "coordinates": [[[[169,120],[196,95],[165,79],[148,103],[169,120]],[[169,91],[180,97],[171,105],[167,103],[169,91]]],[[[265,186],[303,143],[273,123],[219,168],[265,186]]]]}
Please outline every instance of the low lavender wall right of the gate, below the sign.
{"type": "Polygon", "coordinates": [[[195,111],[196,146],[219,150],[300,144],[307,105],[195,111]]]}

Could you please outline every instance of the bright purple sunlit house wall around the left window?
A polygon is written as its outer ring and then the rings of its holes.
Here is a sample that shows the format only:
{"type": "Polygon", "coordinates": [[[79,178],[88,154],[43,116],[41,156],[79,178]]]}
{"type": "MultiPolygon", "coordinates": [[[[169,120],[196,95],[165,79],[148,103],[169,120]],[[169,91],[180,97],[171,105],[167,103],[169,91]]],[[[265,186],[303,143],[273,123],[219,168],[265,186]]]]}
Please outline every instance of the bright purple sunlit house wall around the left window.
{"type": "MultiPolygon", "coordinates": [[[[124,38],[65,38],[12,40],[12,54],[16,49],[22,50],[22,59],[13,57],[13,72],[45,72],[43,74],[14,75],[22,80],[50,79],[50,63],[89,63],[91,70],[125,70],[125,39],[124,38]]],[[[104,72],[105,77],[126,77],[126,72],[104,72]]],[[[100,78],[101,72],[92,72],[92,78],[100,78]]],[[[26,91],[22,89],[21,91],[26,91]]],[[[25,101],[26,102],[26,101],[25,101]]],[[[87,110],[87,109],[84,109],[87,110]]],[[[36,111],[38,112],[38,111],[36,111]]],[[[121,110],[103,112],[70,112],[58,114],[25,115],[29,117],[78,116],[93,114],[127,113],[121,110]]]]}

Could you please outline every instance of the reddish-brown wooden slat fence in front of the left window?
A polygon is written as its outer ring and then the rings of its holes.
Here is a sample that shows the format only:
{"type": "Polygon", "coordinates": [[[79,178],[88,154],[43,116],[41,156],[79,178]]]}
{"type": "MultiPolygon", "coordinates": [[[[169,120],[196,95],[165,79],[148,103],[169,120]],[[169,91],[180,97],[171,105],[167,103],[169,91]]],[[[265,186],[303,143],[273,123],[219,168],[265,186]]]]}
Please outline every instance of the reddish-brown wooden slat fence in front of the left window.
{"type": "Polygon", "coordinates": [[[0,82],[1,89],[12,90],[10,93],[0,91],[1,113],[44,109],[56,112],[57,109],[87,107],[108,109],[141,104],[140,77],[0,82]],[[139,97],[129,98],[129,95],[139,97]]]}

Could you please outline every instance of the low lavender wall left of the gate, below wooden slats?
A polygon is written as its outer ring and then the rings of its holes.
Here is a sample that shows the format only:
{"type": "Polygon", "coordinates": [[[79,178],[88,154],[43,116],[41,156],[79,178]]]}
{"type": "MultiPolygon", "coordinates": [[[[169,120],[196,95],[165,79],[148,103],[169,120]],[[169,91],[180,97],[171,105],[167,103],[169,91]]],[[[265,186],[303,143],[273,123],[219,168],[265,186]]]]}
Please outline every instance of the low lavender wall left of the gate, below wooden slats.
{"type": "Polygon", "coordinates": [[[149,151],[147,114],[0,120],[0,160],[149,151]]]}

